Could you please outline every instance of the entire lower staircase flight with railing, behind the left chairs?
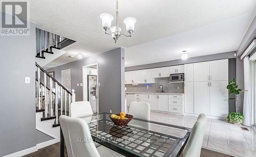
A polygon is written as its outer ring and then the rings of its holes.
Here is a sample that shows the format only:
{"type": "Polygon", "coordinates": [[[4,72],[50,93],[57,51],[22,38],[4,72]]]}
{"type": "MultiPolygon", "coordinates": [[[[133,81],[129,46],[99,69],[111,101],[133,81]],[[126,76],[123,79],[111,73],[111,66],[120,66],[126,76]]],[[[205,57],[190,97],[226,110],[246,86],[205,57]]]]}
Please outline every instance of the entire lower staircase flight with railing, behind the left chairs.
{"type": "Polygon", "coordinates": [[[59,116],[70,115],[75,90],[70,92],[40,65],[36,65],[36,129],[59,139],[59,116]]]}

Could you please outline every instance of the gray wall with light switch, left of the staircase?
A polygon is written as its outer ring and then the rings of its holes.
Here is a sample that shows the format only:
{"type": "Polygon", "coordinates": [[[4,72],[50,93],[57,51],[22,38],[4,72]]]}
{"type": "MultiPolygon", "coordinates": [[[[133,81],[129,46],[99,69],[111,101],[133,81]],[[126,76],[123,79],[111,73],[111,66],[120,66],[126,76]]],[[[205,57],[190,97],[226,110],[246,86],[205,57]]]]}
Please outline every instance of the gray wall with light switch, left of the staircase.
{"type": "Polygon", "coordinates": [[[35,47],[33,24],[29,36],[0,36],[0,156],[51,139],[35,129],[35,47]]]}

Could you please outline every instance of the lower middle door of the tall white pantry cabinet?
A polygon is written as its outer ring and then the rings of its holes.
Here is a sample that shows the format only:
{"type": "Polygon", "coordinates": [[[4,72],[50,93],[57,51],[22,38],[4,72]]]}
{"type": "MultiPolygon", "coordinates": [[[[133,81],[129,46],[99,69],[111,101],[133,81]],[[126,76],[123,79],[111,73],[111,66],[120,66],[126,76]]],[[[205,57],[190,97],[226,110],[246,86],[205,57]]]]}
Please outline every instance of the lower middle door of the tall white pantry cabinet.
{"type": "Polygon", "coordinates": [[[209,82],[194,82],[194,114],[209,115],[209,82]]]}

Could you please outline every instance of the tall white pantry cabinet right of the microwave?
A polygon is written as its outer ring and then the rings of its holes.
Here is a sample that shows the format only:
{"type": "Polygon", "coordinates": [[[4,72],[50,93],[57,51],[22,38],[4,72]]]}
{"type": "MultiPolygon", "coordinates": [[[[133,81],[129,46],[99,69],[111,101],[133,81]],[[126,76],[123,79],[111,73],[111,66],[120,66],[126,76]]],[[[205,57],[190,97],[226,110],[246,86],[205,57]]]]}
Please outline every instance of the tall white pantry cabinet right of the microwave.
{"type": "MultiPolygon", "coordinates": [[[[191,69],[192,65],[185,64],[185,74],[188,70],[191,73],[191,69]]],[[[226,89],[228,59],[193,63],[193,73],[194,81],[191,81],[191,76],[188,78],[189,81],[186,81],[185,75],[185,113],[226,117],[228,114],[228,90],[226,89]],[[194,97],[191,96],[192,93],[194,97]]]]}

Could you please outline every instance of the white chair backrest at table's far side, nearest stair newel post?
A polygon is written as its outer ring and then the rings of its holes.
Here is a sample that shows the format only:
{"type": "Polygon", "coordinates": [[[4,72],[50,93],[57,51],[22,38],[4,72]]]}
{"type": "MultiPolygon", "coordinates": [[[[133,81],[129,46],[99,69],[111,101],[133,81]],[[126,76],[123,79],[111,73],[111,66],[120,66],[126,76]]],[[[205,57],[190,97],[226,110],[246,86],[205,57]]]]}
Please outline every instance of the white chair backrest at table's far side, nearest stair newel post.
{"type": "Polygon", "coordinates": [[[89,101],[77,101],[72,102],[70,105],[70,116],[71,117],[83,117],[92,115],[93,110],[89,101]]]}

